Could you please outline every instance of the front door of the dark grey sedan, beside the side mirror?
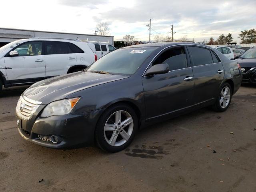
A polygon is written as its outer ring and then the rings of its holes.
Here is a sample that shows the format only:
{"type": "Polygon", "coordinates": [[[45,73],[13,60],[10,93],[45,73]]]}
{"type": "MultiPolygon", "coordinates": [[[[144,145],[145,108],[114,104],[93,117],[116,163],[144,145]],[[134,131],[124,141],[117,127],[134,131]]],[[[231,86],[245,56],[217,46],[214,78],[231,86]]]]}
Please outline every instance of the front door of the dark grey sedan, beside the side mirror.
{"type": "Polygon", "coordinates": [[[194,79],[186,47],[163,50],[150,66],[164,63],[169,64],[168,73],[142,77],[148,120],[192,104],[194,79]]]}

